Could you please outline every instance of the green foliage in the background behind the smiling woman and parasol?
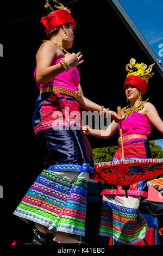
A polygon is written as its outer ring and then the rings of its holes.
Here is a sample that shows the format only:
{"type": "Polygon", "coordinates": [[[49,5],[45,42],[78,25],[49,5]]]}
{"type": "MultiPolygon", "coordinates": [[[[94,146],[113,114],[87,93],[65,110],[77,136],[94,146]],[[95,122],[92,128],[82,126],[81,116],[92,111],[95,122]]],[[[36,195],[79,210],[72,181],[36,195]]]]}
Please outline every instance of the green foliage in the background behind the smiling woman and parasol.
{"type": "MultiPolygon", "coordinates": [[[[150,141],[149,145],[151,149],[152,158],[156,158],[156,159],[163,158],[163,150],[159,145],[157,145],[154,141],[150,141]]],[[[116,153],[117,149],[118,149],[118,146],[92,149],[93,158],[94,160],[99,161],[100,163],[110,162],[112,161],[112,158],[114,157],[114,154],[116,153]]],[[[161,177],[163,177],[163,174],[155,176],[151,180],[158,179],[161,177]]]]}

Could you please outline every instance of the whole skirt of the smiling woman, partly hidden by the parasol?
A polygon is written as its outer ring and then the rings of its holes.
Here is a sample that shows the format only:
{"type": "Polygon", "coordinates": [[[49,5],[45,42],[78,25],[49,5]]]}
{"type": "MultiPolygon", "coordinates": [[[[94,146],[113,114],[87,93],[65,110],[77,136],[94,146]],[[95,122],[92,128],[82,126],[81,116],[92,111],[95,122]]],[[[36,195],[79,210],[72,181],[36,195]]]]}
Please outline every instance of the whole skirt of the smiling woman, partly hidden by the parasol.
{"type": "MultiPolygon", "coordinates": [[[[124,152],[125,160],[151,158],[148,140],[124,145],[124,152]]],[[[122,150],[119,148],[113,161],[121,158],[122,150]]],[[[101,193],[103,200],[99,235],[112,237],[117,243],[126,245],[133,245],[146,236],[148,225],[139,212],[141,196],[147,196],[146,184],[147,181],[142,181],[130,185],[128,198],[121,186],[105,184],[101,193]],[[121,193],[118,193],[119,190],[121,193]]]]}

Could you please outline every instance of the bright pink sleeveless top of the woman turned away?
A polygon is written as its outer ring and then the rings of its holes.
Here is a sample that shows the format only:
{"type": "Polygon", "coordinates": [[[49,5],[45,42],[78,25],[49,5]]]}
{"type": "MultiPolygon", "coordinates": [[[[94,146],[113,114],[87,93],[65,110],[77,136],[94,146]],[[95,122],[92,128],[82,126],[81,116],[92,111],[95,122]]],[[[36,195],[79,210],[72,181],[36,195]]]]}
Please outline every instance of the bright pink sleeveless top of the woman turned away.
{"type": "MultiPolygon", "coordinates": [[[[52,65],[58,64],[60,59],[65,56],[60,56],[58,58],[54,58],[52,61],[52,65]]],[[[36,81],[36,68],[34,71],[35,82],[39,89],[47,86],[61,86],[72,90],[78,90],[78,85],[80,83],[80,75],[76,67],[71,68],[67,72],[61,72],[58,76],[55,76],[51,81],[47,83],[38,84],[36,81]]]]}

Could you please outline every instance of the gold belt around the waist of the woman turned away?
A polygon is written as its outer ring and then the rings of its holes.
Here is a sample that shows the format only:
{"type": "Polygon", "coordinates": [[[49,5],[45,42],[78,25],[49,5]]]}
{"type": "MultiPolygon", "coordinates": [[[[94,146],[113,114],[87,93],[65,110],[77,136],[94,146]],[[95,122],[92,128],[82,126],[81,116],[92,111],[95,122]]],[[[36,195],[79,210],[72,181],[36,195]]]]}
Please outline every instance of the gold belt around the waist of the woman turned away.
{"type": "Polygon", "coordinates": [[[72,89],[68,89],[65,87],[61,87],[61,86],[46,86],[46,87],[42,87],[40,90],[40,94],[41,93],[62,93],[62,94],[66,94],[68,96],[72,96],[74,97],[78,102],[80,101],[81,97],[82,97],[82,93],[79,92],[79,90],[72,90],[72,89]]]}

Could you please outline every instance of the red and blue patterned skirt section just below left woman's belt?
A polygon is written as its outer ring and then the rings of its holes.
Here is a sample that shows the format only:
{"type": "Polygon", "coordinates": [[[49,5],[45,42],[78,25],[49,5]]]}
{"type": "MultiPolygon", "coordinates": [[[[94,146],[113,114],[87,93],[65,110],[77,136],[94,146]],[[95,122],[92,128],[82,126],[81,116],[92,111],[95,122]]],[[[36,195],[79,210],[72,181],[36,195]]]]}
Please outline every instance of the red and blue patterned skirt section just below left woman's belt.
{"type": "Polygon", "coordinates": [[[82,130],[82,115],[76,99],[60,93],[43,93],[37,97],[33,116],[35,134],[72,125],[82,130]]]}

